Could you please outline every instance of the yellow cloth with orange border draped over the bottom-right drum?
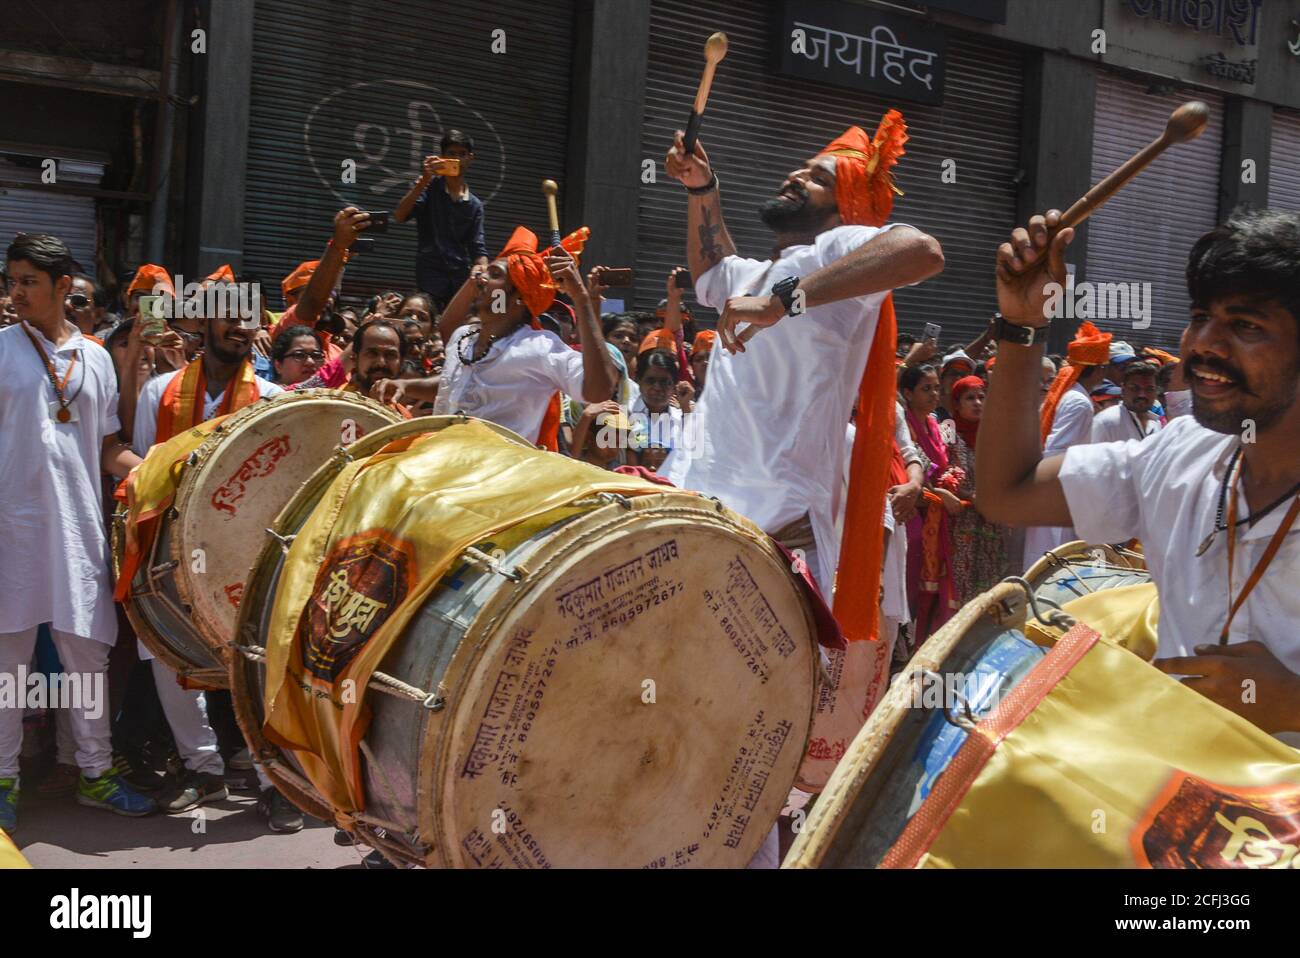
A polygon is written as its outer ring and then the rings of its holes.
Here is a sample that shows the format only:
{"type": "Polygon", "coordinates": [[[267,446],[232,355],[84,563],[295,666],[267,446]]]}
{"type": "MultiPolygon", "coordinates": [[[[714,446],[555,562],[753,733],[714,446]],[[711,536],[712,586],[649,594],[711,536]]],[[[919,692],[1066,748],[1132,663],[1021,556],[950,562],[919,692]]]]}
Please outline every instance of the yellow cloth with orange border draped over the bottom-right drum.
{"type": "Polygon", "coordinates": [[[985,716],[884,867],[1297,868],[1300,751],[1079,625],[985,716]]]}

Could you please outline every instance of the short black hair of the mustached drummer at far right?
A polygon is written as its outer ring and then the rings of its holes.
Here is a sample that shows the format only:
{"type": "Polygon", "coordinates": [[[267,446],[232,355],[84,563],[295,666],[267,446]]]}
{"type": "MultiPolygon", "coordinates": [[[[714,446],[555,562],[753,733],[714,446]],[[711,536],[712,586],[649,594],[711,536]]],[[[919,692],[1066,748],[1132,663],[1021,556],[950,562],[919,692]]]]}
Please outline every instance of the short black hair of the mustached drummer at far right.
{"type": "Polygon", "coordinates": [[[1187,292],[1197,309],[1227,296],[1277,302],[1300,331],[1300,214],[1256,209],[1216,226],[1187,257],[1187,292]]]}

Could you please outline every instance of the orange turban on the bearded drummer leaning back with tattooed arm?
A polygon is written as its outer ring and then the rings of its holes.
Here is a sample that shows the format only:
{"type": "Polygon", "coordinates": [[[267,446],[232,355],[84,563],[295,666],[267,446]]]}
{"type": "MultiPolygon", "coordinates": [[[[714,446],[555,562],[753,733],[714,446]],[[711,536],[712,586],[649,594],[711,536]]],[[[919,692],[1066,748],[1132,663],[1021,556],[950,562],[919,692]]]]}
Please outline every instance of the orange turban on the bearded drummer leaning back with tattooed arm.
{"type": "Polygon", "coordinates": [[[818,156],[835,157],[835,200],[840,220],[850,226],[884,226],[893,209],[893,166],[904,155],[907,121],[896,109],[884,114],[876,135],[867,138],[861,126],[850,126],[831,140],[818,156]]]}

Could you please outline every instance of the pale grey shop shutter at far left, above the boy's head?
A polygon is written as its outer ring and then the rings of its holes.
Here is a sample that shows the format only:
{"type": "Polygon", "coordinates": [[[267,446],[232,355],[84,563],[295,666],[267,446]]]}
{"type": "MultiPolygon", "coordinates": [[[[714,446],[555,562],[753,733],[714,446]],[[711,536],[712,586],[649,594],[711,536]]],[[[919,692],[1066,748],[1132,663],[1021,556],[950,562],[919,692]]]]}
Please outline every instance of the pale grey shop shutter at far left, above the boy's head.
{"type": "MultiPolygon", "coordinates": [[[[57,151],[44,156],[57,160],[56,175],[60,183],[99,186],[104,177],[101,162],[58,159],[57,151]]],[[[40,183],[39,159],[0,156],[0,179],[40,183]]],[[[72,250],[82,269],[95,276],[94,198],[0,187],[0,250],[9,246],[17,233],[49,233],[58,237],[72,250]]]]}

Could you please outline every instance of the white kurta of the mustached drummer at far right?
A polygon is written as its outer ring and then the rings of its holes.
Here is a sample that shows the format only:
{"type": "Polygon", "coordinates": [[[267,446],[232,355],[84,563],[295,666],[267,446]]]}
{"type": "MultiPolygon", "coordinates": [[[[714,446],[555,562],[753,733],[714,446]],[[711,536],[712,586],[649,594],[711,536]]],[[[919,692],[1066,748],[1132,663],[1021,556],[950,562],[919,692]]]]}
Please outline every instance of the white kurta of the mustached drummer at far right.
{"type": "MultiPolygon", "coordinates": [[[[1196,555],[1214,516],[1238,437],[1205,429],[1182,416],[1139,442],[1075,446],[1061,465],[1070,516],[1089,542],[1141,539],[1147,568],[1160,591],[1160,658],[1192,655],[1217,645],[1227,620],[1227,533],[1196,555]]],[[[1238,490],[1238,515],[1249,512],[1238,490]]],[[[1273,533],[1279,507],[1253,528],[1238,528],[1234,582],[1240,590],[1273,533]]],[[[1232,619],[1228,642],[1264,642],[1278,660],[1300,673],[1300,524],[1282,541],[1268,572],[1232,619]]],[[[1279,734],[1300,746],[1300,731],[1279,734]]]]}

